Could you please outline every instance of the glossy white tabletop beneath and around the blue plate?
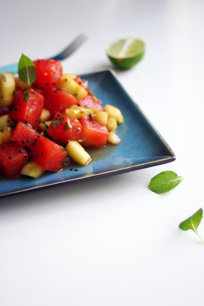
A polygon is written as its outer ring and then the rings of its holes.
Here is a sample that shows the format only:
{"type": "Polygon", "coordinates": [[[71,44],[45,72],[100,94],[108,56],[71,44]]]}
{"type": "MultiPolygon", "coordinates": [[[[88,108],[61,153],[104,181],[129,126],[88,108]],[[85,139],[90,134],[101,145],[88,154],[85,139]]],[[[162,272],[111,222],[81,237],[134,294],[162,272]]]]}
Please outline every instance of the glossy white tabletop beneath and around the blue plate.
{"type": "Polygon", "coordinates": [[[203,16],[203,0],[2,1],[0,66],[83,32],[63,68],[89,73],[112,67],[112,41],[144,39],[143,60],[116,73],[176,161],[1,198],[1,306],[204,305],[204,244],[178,227],[204,208],[203,16]],[[163,170],[185,178],[157,195],[148,185],[163,170]]]}

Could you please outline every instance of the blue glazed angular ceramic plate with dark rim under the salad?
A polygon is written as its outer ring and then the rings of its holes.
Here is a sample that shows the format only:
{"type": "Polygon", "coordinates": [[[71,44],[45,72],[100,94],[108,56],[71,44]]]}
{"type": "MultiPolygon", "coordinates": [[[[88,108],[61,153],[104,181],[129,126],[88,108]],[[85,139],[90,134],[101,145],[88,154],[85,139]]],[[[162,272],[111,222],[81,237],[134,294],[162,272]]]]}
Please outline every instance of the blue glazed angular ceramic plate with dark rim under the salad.
{"type": "Polygon", "coordinates": [[[37,179],[26,176],[14,180],[0,178],[0,197],[120,174],[176,159],[165,140],[123,89],[114,71],[89,73],[81,77],[89,81],[91,90],[103,101],[103,105],[112,104],[121,110],[125,122],[117,128],[120,144],[89,150],[92,162],[85,167],[72,164],[58,173],[46,172],[37,179]]]}

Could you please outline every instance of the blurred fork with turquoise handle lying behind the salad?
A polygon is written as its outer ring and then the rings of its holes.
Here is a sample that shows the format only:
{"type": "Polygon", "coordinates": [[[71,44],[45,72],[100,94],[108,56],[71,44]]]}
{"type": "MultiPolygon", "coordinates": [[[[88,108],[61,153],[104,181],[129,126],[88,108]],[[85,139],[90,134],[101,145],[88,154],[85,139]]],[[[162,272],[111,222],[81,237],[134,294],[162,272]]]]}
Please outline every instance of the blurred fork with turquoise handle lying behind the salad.
{"type": "MultiPolygon", "coordinates": [[[[59,54],[56,54],[55,56],[53,56],[51,58],[58,59],[58,60],[62,61],[63,59],[70,56],[70,54],[72,54],[75,50],[77,50],[83,43],[85,43],[87,38],[88,37],[85,34],[77,35],[69,43],[69,45],[66,46],[64,50],[62,50],[62,52],[60,52],[59,54]]],[[[6,72],[6,71],[13,72],[13,74],[18,73],[18,63],[0,67],[0,73],[1,72],[6,72]]]]}

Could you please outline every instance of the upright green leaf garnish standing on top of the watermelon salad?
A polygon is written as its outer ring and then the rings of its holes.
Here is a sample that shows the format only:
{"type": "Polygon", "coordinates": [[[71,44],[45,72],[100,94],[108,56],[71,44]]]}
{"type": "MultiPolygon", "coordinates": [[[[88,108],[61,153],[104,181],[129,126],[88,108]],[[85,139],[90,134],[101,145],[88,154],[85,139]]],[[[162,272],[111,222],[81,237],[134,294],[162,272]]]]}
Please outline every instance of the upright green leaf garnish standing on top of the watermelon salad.
{"type": "Polygon", "coordinates": [[[30,86],[37,78],[36,66],[31,59],[24,54],[21,55],[18,63],[18,75],[22,81],[28,84],[28,86],[30,86]]]}

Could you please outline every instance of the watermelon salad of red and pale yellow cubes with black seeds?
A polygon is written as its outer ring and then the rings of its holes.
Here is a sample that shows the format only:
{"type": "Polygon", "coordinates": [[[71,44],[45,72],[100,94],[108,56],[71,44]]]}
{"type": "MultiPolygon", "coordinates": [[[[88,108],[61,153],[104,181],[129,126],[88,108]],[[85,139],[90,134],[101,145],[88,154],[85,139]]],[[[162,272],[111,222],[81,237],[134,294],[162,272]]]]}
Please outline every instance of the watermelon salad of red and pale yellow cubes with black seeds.
{"type": "Polygon", "coordinates": [[[18,76],[0,74],[1,176],[37,178],[71,162],[86,166],[87,148],[119,144],[117,107],[103,106],[88,82],[63,73],[58,60],[23,59],[18,76]]]}

